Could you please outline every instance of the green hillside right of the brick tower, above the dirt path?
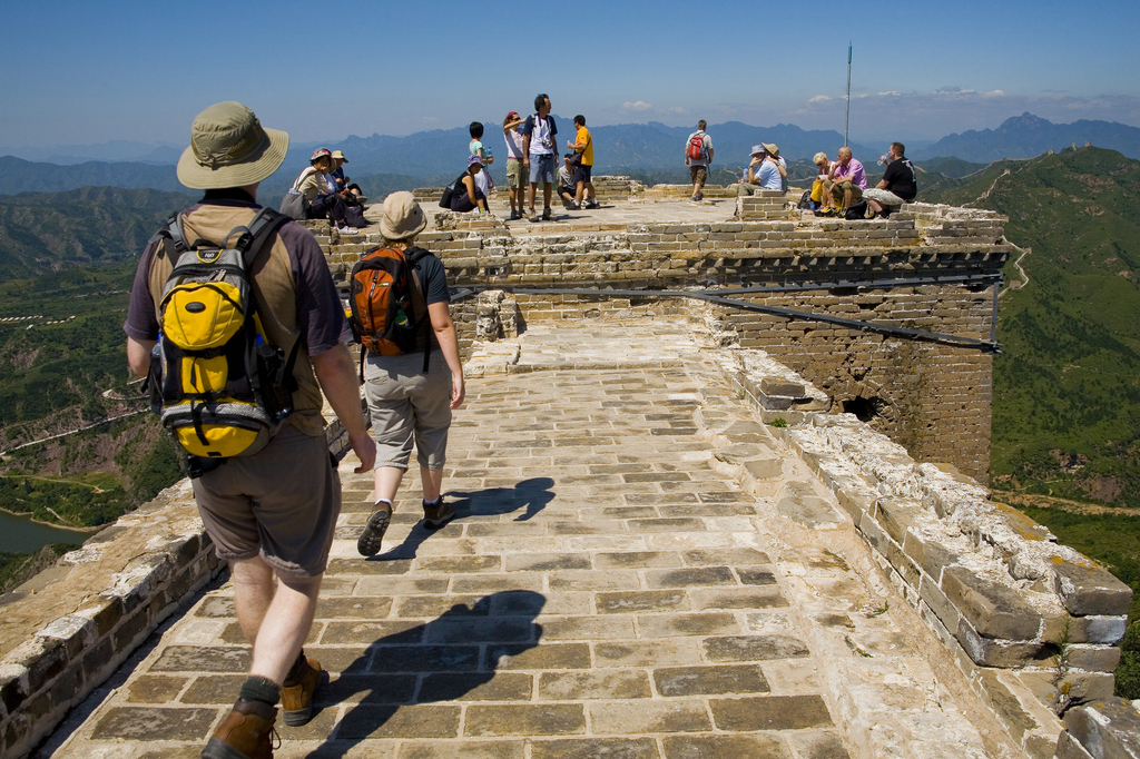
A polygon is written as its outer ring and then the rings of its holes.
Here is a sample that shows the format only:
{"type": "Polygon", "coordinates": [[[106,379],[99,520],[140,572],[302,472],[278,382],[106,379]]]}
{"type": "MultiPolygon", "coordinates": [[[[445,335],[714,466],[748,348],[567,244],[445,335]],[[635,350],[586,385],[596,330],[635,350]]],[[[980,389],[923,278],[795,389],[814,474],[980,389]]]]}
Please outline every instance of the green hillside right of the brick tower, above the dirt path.
{"type": "Polygon", "coordinates": [[[1140,162],[1089,147],[968,179],[922,199],[1007,214],[1032,251],[1001,299],[994,487],[1140,507],[1140,162]]]}

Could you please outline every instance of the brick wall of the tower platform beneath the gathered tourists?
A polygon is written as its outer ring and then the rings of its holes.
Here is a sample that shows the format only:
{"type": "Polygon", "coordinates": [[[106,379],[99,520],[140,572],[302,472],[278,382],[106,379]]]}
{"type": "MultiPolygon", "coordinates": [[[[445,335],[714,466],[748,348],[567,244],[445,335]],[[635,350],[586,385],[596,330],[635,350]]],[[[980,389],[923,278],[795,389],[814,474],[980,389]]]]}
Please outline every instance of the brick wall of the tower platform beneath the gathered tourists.
{"type": "MultiPolygon", "coordinates": [[[[772,205],[777,219],[722,223],[570,227],[515,237],[494,217],[435,213],[421,244],[437,253],[456,289],[596,288],[598,295],[526,294],[520,325],[634,313],[703,313],[712,308],[743,346],[762,348],[903,444],[919,460],[947,462],[985,481],[990,467],[992,359],[972,349],[919,343],[808,320],[659,297],[653,291],[804,286],[738,295],[751,303],[896,327],[988,340],[992,289],[914,278],[996,276],[1011,246],[988,211],[912,204],[889,220],[789,218],[781,193],[739,198],[772,205]],[[853,283],[878,281],[876,287],[853,283]],[[608,296],[605,291],[642,291],[608,296]]],[[[747,210],[743,213],[749,213],[747,210]]],[[[768,210],[756,211],[763,215],[768,210]]],[[[364,238],[332,243],[334,274],[347,272],[364,238]]],[[[467,354],[474,302],[454,316],[467,354]]]]}

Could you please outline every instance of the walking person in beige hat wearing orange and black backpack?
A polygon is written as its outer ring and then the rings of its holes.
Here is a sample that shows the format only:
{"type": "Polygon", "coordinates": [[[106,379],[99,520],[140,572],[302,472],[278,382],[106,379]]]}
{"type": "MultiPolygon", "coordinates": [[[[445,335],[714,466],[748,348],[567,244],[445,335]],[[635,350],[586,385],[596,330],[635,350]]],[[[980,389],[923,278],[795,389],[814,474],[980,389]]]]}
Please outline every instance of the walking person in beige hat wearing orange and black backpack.
{"type": "Polygon", "coordinates": [[[392,193],[380,219],[383,245],[352,270],[351,323],[377,447],[376,511],[357,539],[363,556],[380,553],[413,441],[424,527],[434,530],[455,516],[442,483],[451,411],[465,393],[463,364],[443,263],[415,245],[426,225],[412,193],[392,193]]]}

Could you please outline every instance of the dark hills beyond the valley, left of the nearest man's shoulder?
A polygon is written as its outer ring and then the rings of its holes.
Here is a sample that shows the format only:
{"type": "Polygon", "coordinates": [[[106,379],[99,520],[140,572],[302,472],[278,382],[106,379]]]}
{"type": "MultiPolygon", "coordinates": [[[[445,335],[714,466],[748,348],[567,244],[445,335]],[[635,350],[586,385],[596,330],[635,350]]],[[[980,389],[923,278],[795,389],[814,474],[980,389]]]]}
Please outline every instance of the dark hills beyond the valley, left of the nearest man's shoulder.
{"type": "Polygon", "coordinates": [[[117,187],[0,196],[0,281],[137,255],[164,219],[194,199],[117,187]]]}

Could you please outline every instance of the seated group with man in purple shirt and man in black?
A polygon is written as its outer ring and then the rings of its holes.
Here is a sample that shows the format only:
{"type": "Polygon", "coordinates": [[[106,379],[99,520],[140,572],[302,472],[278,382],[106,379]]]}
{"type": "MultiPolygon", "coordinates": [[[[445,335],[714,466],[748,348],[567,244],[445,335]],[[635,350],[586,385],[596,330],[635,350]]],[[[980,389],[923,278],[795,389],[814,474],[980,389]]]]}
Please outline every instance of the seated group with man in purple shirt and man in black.
{"type": "Polygon", "coordinates": [[[874,187],[866,186],[866,170],[852,156],[849,147],[839,148],[836,161],[816,153],[812,162],[820,173],[812,185],[811,203],[817,217],[842,217],[861,199],[866,201],[865,219],[886,219],[903,203],[918,195],[918,174],[905,156],[902,142],[891,142],[879,163],[887,170],[874,187]]]}

